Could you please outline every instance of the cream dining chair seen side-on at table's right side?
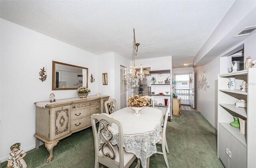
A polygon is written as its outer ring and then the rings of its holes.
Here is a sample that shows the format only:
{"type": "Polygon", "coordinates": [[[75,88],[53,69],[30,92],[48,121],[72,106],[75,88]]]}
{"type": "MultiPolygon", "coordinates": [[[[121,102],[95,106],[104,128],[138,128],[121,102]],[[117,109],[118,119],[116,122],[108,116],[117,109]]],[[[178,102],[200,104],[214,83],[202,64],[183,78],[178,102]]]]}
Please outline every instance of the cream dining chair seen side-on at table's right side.
{"type": "Polygon", "coordinates": [[[168,160],[167,160],[167,156],[166,156],[166,150],[169,153],[169,149],[167,146],[167,141],[166,141],[166,126],[167,126],[167,120],[168,120],[168,114],[170,112],[170,108],[171,108],[171,103],[168,103],[166,112],[165,112],[165,116],[164,116],[164,127],[162,128],[162,132],[160,133],[160,141],[158,142],[158,144],[162,144],[162,152],[157,151],[156,153],[158,154],[162,154],[164,155],[164,161],[166,163],[166,166],[169,168],[169,164],[168,164],[168,160]],[[166,149],[166,150],[165,150],[166,149]]]}

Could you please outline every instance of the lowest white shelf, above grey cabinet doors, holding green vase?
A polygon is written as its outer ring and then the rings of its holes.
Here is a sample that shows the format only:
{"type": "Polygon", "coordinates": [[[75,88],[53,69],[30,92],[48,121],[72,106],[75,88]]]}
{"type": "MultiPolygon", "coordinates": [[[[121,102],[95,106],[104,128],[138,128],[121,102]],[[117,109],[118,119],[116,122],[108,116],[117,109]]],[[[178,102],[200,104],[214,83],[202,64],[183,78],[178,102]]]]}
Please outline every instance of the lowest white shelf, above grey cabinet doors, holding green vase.
{"type": "Polygon", "coordinates": [[[222,125],[231,135],[233,135],[240,143],[242,143],[246,147],[246,135],[240,132],[239,128],[232,127],[229,123],[221,123],[222,125]]]}

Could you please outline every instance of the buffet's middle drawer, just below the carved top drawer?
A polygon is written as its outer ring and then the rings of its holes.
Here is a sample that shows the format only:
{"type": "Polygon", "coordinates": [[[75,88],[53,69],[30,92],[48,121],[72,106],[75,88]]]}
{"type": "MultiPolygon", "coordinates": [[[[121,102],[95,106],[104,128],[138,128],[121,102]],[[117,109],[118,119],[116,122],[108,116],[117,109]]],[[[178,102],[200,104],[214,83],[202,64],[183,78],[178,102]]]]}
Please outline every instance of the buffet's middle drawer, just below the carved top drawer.
{"type": "Polygon", "coordinates": [[[91,116],[92,114],[99,113],[99,112],[100,112],[100,104],[92,105],[90,107],[86,107],[86,108],[83,108],[83,109],[72,110],[70,119],[73,120],[73,119],[86,117],[88,115],[91,116]]]}

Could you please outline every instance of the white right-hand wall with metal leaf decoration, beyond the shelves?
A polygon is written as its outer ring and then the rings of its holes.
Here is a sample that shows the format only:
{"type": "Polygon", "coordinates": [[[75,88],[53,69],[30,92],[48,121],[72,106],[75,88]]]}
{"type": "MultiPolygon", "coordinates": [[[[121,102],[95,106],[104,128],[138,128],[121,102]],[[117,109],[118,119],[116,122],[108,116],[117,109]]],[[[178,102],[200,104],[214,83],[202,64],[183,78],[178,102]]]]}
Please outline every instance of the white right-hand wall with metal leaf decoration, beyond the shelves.
{"type": "Polygon", "coordinates": [[[195,71],[195,103],[196,109],[217,129],[218,112],[218,74],[220,74],[220,58],[209,63],[194,67],[195,71]],[[198,89],[198,78],[206,76],[210,88],[198,89]]]}

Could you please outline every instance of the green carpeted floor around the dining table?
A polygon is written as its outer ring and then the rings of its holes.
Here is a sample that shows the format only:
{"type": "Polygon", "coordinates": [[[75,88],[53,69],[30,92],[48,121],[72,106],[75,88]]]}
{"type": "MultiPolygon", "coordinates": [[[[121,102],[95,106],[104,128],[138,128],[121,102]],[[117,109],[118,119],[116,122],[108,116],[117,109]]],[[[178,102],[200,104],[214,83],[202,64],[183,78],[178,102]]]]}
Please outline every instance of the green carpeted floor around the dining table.
{"type": "MultiPolygon", "coordinates": [[[[217,158],[217,131],[199,113],[182,110],[180,117],[168,122],[166,137],[170,168],[224,168],[217,158]]],[[[160,149],[160,146],[159,146],[160,149]]],[[[53,160],[46,163],[49,154],[44,147],[27,152],[28,168],[94,168],[94,138],[92,128],[74,133],[61,140],[53,150],[53,160]]],[[[3,162],[1,168],[5,168],[3,162]]],[[[131,167],[136,165],[134,162],[131,167]]],[[[166,168],[164,157],[150,157],[150,168],[166,168]]]]}

